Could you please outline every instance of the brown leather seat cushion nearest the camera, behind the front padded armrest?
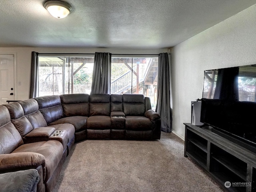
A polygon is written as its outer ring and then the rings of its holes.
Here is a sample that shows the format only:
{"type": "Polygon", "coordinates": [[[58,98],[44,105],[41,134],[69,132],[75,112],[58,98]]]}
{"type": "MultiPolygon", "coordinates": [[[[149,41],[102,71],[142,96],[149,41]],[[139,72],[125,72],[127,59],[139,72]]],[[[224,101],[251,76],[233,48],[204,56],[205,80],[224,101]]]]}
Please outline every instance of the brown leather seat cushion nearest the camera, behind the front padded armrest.
{"type": "Polygon", "coordinates": [[[62,161],[63,146],[59,141],[56,140],[41,141],[23,144],[12,153],[19,152],[35,152],[42,154],[45,157],[45,180],[47,181],[58,167],[60,161],[62,161]]]}

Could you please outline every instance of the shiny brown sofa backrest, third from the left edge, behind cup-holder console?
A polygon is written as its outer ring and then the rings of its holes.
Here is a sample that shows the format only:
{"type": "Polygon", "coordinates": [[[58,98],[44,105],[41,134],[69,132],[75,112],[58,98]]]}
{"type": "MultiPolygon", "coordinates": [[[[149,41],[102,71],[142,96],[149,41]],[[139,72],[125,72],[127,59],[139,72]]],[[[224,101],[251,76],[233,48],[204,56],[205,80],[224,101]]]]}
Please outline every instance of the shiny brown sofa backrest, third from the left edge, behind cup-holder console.
{"type": "Polygon", "coordinates": [[[18,102],[24,111],[24,116],[29,120],[33,129],[38,127],[46,127],[47,123],[44,116],[39,111],[38,103],[34,99],[27,99],[18,102]]]}

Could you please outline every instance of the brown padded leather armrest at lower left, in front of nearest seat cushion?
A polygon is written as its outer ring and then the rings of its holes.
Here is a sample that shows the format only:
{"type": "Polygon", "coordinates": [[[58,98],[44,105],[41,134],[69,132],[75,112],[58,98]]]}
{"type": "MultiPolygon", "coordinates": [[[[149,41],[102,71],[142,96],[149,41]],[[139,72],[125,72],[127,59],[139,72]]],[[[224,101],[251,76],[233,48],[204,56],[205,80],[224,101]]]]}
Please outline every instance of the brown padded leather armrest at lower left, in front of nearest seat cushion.
{"type": "Polygon", "coordinates": [[[45,157],[34,152],[0,154],[0,173],[45,167],[45,157]]]}

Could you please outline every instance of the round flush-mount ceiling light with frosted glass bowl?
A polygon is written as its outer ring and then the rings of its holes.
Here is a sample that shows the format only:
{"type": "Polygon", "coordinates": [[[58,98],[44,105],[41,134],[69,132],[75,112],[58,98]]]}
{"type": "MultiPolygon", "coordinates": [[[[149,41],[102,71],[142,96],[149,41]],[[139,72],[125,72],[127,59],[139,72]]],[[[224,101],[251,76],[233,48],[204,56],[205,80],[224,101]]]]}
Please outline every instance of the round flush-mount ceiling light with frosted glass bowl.
{"type": "Polygon", "coordinates": [[[72,11],[71,6],[62,1],[47,1],[44,7],[52,16],[58,19],[66,17],[72,11]]]}

